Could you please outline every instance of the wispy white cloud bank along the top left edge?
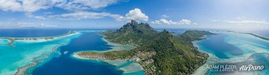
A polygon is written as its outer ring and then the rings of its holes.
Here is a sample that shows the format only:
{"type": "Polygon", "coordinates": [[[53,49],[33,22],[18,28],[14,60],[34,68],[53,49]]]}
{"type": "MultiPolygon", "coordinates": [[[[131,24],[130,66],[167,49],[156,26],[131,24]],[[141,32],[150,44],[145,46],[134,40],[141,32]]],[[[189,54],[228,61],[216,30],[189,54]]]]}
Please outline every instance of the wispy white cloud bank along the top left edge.
{"type": "MultiPolygon", "coordinates": [[[[98,9],[111,4],[121,2],[120,0],[0,0],[0,9],[3,11],[25,12],[27,17],[45,19],[43,16],[32,15],[40,9],[58,7],[71,11],[83,11],[85,9],[98,9]]],[[[44,13],[51,14],[51,13],[44,13]]]]}

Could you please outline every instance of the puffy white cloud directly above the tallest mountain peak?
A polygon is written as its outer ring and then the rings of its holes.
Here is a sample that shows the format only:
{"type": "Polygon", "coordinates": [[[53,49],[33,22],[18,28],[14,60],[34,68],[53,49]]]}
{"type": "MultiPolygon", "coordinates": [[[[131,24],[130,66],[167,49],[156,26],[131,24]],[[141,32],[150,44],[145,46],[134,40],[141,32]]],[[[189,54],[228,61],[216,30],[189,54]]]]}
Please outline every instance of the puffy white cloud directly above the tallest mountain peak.
{"type": "Polygon", "coordinates": [[[148,16],[145,15],[144,13],[141,12],[140,9],[134,8],[130,10],[128,13],[125,14],[125,16],[116,16],[115,19],[117,21],[129,21],[129,20],[142,20],[142,21],[147,21],[148,16]]]}

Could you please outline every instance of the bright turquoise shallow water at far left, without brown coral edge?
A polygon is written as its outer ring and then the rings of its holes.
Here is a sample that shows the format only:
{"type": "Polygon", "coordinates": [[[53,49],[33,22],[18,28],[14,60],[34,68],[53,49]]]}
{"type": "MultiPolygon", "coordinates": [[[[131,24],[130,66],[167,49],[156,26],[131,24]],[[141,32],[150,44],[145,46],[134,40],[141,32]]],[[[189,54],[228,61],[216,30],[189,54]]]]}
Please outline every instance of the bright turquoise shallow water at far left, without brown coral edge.
{"type": "MultiPolygon", "coordinates": [[[[75,37],[64,36],[53,40],[18,40],[13,43],[16,47],[0,45],[0,74],[11,74],[16,68],[32,63],[34,57],[49,55],[52,49],[59,45],[65,45],[70,39],[75,37]]],[[[0,39],[6,42],[6,39],[0,39]]]]}

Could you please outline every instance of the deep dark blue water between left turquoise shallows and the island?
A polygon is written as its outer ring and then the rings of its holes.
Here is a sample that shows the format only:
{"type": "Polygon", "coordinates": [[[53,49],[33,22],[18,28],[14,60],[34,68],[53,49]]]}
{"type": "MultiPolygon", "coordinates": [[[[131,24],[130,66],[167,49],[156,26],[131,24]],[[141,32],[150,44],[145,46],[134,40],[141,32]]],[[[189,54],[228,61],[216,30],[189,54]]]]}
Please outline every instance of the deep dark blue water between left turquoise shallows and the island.
{"type": "Polygon", "coordinates": [[[33,74],[121,74],[115,66],[96,62],[94,60],[78,60],[71,57],[72,52],[81,50],[108,50],[110,49],[101,35],[96,32],[84,32],[81,36],[74,38],[68,45],[60,47],[61,55],[54,57],[43,65],[33,70],[33,74]],[[64,51],[68,51],[63,54],[64,51]]]}

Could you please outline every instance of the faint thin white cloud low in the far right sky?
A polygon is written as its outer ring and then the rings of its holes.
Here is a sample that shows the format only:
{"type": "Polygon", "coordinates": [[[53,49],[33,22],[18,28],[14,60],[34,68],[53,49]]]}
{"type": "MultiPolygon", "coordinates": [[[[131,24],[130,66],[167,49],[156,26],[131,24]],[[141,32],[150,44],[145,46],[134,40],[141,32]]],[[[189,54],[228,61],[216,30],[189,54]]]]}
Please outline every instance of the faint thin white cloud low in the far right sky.
{"type": "Polygon", "coordinates": [[[240,21],[230,21],[225,20],[227,23],[236,23],[236,24],[269,24],[267,21],[258,21],[258,20],[240,20],[240,21]]]}

